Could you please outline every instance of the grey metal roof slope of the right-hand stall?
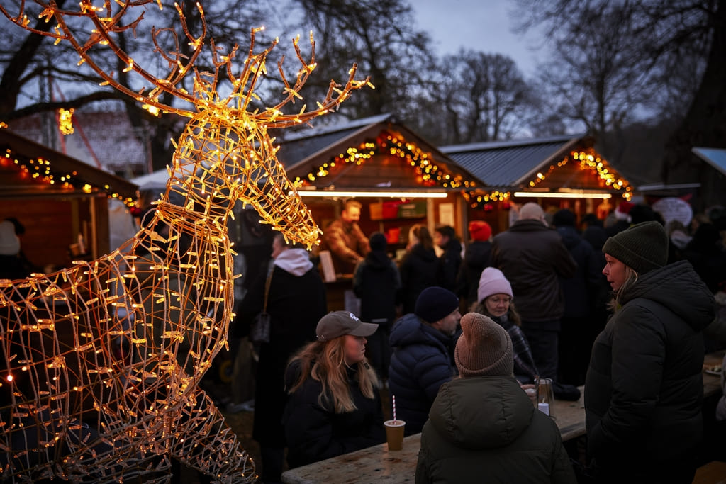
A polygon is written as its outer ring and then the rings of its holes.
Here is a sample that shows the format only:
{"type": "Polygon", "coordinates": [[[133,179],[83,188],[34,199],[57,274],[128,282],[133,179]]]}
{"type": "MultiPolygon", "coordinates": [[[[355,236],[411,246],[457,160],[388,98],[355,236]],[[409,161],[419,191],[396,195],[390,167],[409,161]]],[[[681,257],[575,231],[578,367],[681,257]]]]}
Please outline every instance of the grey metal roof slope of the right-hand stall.
{"type": "Polygon", "coordinates": [[[452,160],[486,186],[514,187],[556,163],[582,141],[583,135],[553,136],[522,141],[491,141],[441,147],[452,160]]]}

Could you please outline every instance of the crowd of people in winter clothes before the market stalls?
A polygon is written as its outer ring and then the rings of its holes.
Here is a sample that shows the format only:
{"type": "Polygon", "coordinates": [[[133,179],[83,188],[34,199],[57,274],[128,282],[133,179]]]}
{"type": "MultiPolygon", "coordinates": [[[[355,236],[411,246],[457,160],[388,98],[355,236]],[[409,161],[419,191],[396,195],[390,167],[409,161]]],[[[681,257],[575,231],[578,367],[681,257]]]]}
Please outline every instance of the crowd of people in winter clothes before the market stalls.
{"type": "MultiPolygon", "coordinates": [[[[328,313],[317,267],[279,236],[242,301],[238,332],[264,299],[272,314],[254,406],[264,483],[280,482],[285,448],[298,467],[383,443],[388,395],[406,435],[422,434],[416,482],[479,482],[484,469],[493,482],[576,482],[557,426],[525,391],[538,377],[558,399],[587,388],[588,478],[690,483],[703,355],[726,347],[713,221],[665,224],[629,202],[578,221],[527,203],[499,234],[471,221],[466,244],[451,226],[415,224],[396,261],[384,234],[364,239],[360,208],[346,204],[327,242],[359,314],[328,313]]],[[[726,398],[718,419],[724,409],[726,398]]]]}

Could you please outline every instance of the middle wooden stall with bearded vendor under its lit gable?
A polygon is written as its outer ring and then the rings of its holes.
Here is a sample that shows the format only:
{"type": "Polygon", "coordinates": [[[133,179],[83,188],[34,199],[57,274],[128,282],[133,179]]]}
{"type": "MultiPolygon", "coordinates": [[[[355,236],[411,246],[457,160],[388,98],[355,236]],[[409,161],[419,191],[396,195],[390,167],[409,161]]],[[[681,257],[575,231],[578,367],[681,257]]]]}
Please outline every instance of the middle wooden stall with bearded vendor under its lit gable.
{"type": "MultiPolygon", "coordinates": [[[[362,203],[364,234],[386,234],[394,257],[402,256],[416,223],[431,231],[450,225],[462,234],[467,209],[460,194],[479,185],[390,114],[285,136],[277,157],[323,231],[354,198],[362,203]]],[[[351,277],[335,279],[328,280],[328,305],[342,309],[341,291],[351,287],[351,277]]]]}

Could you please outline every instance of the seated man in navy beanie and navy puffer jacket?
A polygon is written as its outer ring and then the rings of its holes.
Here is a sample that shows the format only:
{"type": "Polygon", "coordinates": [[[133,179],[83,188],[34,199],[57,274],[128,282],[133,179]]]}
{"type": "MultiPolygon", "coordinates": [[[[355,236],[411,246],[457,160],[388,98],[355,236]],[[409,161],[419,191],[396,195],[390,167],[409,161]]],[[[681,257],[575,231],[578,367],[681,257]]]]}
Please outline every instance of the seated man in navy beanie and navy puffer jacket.
{"type": "Polygon", "coordinates": [[[391,329],[388,388],[396,396],[396,417],[406,422],[406,435],[421,431],[439,387],[456,374],[452,356],[460,319],[459,298],[453,292],[427,287],[414,312],[391,329]]]}

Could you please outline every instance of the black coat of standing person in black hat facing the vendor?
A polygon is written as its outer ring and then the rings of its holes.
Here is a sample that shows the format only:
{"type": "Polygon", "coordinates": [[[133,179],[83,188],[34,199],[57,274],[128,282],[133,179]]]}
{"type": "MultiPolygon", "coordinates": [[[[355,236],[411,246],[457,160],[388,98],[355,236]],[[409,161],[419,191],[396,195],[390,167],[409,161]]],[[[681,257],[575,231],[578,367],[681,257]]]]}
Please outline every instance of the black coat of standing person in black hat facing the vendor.
{"type": "Polygon", "coordinates": [[[372,250],[356,267],[353,292],[361,300],[363,321],[390,324],[396,319],[401,276],[386,251],[372,250]]]}

